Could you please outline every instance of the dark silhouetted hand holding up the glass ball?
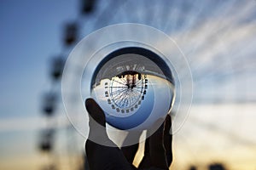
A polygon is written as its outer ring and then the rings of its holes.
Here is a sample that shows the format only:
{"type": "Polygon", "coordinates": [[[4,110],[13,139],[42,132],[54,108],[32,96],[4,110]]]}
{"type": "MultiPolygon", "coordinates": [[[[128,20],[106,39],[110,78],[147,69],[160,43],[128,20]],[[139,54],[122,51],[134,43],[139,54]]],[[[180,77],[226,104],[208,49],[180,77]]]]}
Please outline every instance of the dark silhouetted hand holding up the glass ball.
{"type": "MultiPolygon", "coordinates": [[[[169,169],[172,163],[172,135],[169,133],[172,126],[171,116],[167,115],[164,122],[163,120],[156,122],[161,125],[156,132],[146,139],[143,160],[139,167],[134,167],[132,161],[137,153],[138,144],[119,149],[108,138],[106,129],[102,128],[106,127],[102,108],[93,99],[86,99],[85,107],[90,115],[90,133],[85,143],[90,170],[169,169]],[[103,145],[94,142],[99,139],[103,145]]],[[[126,138],[129,138],[129,135],[126,138]]]]}

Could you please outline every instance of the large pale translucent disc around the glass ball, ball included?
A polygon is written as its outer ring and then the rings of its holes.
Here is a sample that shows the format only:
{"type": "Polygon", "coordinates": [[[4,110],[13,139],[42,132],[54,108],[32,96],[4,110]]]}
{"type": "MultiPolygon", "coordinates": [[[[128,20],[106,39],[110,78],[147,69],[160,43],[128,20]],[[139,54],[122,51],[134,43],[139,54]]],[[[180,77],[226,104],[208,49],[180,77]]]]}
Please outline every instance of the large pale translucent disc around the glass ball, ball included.
{"type": "Polygon", "coordinates": [[[189,63],[177,43],[151,26],[132,23],[84,37],[67,58],[61,87],[67,118],[84,139],[90,139],[90,122],[95,122],[84,100],[93,98],[108,122],[106,127],[94,123],[96,128],[107,131],[115,144],[125,140],[125,145],[138,143],[137,138],[126,141],[127,133],[148,130],[149,137],[158,129],[154,122],[171,110],[176,133],[189,115],[193,96],[189,63]]]}

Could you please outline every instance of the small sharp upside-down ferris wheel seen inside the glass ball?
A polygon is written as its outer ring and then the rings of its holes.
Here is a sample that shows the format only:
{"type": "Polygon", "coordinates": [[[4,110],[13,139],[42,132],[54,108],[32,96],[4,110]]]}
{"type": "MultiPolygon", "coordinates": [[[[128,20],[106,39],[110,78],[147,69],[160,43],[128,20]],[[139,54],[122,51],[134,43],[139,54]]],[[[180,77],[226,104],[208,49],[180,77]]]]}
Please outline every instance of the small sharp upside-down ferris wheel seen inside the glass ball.
{"type": "Polygon", "coordinates": [[[105,83],[108,104],[117,112],[129,113],[141,105],[146,94],[147,76],[136,71],[125,71],[105,83]]]}

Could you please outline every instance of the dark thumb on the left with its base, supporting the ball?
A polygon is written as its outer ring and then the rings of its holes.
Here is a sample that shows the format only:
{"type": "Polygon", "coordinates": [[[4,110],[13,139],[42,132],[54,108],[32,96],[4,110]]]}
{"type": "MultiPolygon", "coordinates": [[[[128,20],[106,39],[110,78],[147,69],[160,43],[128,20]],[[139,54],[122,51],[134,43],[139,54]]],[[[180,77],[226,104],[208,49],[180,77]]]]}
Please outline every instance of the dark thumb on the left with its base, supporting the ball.
{"type": "Polygon", "coordinates": [[[85,143],[85,150],[90,169],[132,169],[121,150],[108,139],[102,108],[93,99],[86,99],[85,107],[89,113],[90,133],[85,143]],[[101,141],[101,144],[96,141],[101,141]]]}

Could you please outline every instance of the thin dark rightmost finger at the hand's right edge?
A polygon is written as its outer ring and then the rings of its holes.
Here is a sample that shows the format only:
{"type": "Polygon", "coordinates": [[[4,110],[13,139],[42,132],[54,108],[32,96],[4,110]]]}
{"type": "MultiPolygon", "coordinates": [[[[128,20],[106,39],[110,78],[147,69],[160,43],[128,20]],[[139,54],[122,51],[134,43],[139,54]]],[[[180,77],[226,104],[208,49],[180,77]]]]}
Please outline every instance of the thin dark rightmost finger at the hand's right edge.
{"type": "Polygon", "coordinates": [[[166,149],[167,165],[170,167],[172,163],[172,118],[170,115],[166,116],[164,129],[164,146],[166,149]]]}

